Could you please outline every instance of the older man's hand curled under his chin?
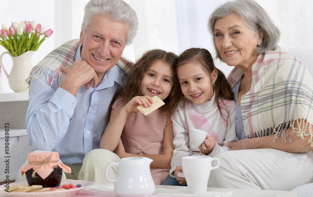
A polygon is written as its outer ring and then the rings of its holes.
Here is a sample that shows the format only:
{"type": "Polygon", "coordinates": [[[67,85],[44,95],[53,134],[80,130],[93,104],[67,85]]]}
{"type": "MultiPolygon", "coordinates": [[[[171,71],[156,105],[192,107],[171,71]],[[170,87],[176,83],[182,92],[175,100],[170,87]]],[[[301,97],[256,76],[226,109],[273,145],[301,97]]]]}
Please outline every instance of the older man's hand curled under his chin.
{"type": "Polygon", "coordinates": [[[85,85],[85,89],[92,86],[95,88],[99,84],[99,78],[95,69],[86,61],[76,60],[72,67],[62,67],[61,71],[66,74],[61,84],[61,88],[76,96],[80,86],[85,85]]]}

